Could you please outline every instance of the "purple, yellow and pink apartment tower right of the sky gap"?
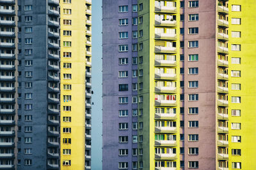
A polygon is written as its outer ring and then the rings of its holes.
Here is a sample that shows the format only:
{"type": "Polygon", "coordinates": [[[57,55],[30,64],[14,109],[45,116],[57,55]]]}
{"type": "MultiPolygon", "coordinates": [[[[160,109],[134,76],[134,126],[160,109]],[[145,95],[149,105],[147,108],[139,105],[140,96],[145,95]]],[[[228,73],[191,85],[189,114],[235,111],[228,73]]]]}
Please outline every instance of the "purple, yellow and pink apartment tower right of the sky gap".
{"type": "Polygon", "coordinates": [[[256,167],[254,7],[103,1],[103,169],[256,167]]]}

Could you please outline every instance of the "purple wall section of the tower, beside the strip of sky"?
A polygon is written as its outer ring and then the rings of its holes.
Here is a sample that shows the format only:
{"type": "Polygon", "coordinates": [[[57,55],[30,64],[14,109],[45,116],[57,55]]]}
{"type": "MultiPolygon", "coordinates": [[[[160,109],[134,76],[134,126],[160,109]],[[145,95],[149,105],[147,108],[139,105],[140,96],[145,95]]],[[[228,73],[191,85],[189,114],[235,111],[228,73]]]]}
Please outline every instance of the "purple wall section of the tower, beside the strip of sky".
{"type": "MultiPolygon", "coordinates": [[[[119,169],[119,166],[128,166],[129,169],[132,169],[132,166],[135,166],[134,164],[137,162],[136,154],[134,154],[136,153],[135,149],[137,148],[137,143],[132,142],[132,136],[137,135],[136,128],[132,128],[132,122],[138,122],[138,118],[136,116],[132,116],[132,112],[138,108],[137,104],[132,103],[132,96],[137,96],[137,91],[132,90],[132,83],[137,83],[137,78],[132,77],[132,70],[137,69],[135,62],[132,64],[132,57],[138,57],[137,52],[132,51],[132,44],[137,43],[137,39],[132,37],[132,31],[137,31],[137,25],[132,24],[132,18],[137,17],[137,12],[132,12],[132,4],[137,4],[137,1],[102,1],[102,169],[115,170],[119,169]],[[120,12],[120,10],[124,12],[120,12]],[[126,18],[128,19],[128,24],[120,25],[120,19],[126,18]],[[121,33],[125,38],[120,39],[119,32],[128,32],[128,36],[127,33],[121,33]],[[119,52],[120,45],[128,45],[128,51],[119,52]],[[128,63],[124,64],[127,62],[126,60],[128,60],[128,63]],[[118,78],[119,71],[128,71],[129,76],[127,78],[118,78]],[[128,103],[120,104],[119,97],[128,97],[128,103]],[[127,117],[120,117],[120,110],[127,110],[127,117]],[[126,123],[129,128],[127,130],[120,130],[120,123],[126,123]],[[128,136],[128,142],[120,143],[120,136],[128,136]],[[134,150],[132,150],[132,148],[134,148],[134,150]],[[127,150],[125,149],[128,150],[128,154],[126,154],[127,150]],[[121,155],[120,152],[122,152],[121,155]]],[[[134,61],[135,60],[136,58],[134,58],[134,61]]]]}

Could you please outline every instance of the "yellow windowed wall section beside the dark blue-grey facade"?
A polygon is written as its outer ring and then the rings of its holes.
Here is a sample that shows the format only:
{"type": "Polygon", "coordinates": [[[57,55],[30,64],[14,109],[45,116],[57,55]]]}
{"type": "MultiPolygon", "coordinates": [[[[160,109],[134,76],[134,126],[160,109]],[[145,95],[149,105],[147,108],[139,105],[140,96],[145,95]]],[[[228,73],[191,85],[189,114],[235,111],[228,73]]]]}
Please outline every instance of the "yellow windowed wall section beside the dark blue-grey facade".
{"type": "Polygon", "coordinates": [[[61,169],[84,169],[86,1],[80,0],[63,3],[61,0],[60,16],[60,167],[61,169]],[[71,35],[67,31],[71,31],[71,35]],[[71,42],[71,45],[69,42],[71,42]],[[71,74],[71,77],[65,77],[64,74],[71,74]],[[67,85],[71,85],[71,87],[67,85]],[[67,108],[68,111],[65,111],[65,106],[70,106],[71,108],[67,108]],[[63,128],[71,128],[71,131],[69,129],[64,130],[63,128]],[[71,139],[71,143],[63,143],[65,139],[71,139]]]}

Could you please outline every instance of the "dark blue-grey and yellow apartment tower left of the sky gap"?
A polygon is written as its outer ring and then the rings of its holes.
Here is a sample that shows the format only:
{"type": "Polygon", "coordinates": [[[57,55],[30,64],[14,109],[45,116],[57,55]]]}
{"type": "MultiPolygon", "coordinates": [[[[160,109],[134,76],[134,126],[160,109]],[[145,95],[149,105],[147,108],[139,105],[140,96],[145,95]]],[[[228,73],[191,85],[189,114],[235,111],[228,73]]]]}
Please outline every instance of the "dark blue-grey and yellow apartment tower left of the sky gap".
{"type": "Polygon", "coordinates": [[[0,4],[0,169],[90,169],[92,1],[0,4]]]}

